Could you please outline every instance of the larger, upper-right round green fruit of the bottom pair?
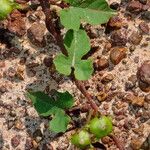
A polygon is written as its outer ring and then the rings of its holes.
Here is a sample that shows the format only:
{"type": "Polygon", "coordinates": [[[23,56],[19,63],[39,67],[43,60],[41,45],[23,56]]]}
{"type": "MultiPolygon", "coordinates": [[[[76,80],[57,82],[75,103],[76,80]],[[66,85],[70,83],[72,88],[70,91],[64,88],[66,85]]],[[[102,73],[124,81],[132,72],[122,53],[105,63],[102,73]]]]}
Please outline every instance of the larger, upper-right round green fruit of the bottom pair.
{"type": "Polygon", "coordinates": [[[89,123],[89,129],[96,138],[102,138],[112,132],[112,121],[109,117],[94,118],[89,123]]]}

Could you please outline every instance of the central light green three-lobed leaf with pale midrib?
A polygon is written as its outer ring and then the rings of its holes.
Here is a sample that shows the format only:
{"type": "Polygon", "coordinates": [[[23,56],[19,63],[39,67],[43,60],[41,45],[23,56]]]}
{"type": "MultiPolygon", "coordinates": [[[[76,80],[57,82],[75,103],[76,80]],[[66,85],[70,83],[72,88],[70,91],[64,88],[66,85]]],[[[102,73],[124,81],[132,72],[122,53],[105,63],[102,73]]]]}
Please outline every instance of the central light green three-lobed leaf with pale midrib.
{"type": "Polygon", "coordinates": [[[90,40],[84,30],[69,30],[66,33],[64,44],[68,57],[60,54],[55,57],[56,69],[64,74],[70,75],[71,68],[74,68],[75,77],[78,80],[87,80],[93,73],[92,60],[82,60],[82,57],[90,50],[90,40]]]}

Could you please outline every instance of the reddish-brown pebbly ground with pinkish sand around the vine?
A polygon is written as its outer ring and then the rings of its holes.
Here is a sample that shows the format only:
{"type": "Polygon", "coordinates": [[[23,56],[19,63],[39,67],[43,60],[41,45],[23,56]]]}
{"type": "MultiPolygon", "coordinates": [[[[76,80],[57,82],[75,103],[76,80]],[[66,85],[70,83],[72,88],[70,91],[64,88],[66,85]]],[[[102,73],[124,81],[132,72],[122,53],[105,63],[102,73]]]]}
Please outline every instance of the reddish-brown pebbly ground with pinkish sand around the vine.
{"type": "MultiPolygon", "coordinates": [[[[101,114],[113,118],[114,134],[125,149],[149,150],[150,1],[108,2],[118,15],[107,25],[85,25],[95,71],[84,85],[101,114]]],[[[52,60],[60,48],[52,41],[44,19],[38,7],[27,13],[14,11],[9,21],[0,22],[2,150],[75,149],[69,141],[75,130],[62,135],[50,132],[48,119],[39,117],[26,97],[27,90],[50,93],[58,89],[72,93],[76,105],[86,103],[75,84],[55,71],[52,60]]],[[[72,119],[81,126],[86,116],[87,113],[79,113],[72,119]]],[[[117,149],[110,137],[101,142],[107,150],[117,149]]]]}

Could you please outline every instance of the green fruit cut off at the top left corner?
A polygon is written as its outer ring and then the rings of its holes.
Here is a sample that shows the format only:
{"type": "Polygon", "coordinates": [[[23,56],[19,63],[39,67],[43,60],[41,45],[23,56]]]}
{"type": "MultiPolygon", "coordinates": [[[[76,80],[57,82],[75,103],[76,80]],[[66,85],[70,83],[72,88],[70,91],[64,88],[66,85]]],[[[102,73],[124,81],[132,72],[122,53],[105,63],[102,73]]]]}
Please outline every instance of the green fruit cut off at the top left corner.
{"type": "Polygon", "coordinates": [[[16,7],[17,4],[10,0],[0,0],[0,20],[5,19],[16,7]]]}

